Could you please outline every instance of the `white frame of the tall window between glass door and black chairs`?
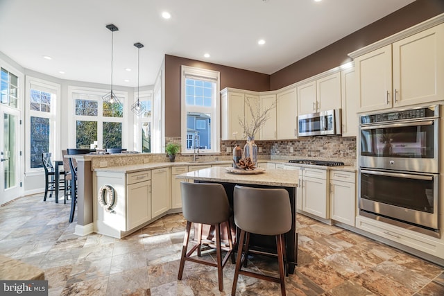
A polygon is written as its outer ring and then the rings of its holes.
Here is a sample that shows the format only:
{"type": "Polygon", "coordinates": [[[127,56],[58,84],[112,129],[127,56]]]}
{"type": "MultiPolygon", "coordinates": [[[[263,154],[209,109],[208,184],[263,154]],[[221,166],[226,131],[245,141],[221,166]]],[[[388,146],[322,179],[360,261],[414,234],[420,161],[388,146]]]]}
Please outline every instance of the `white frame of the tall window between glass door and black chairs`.
{"type": "MultiPolygon", "coordinates": [[[[49,151],[53,155],[53,159],[59,159],[62,157],[62,151],[60,150],[60,100],[61,100],[61,85],[48,80],[35,78],[32,76],[26,76],[26,89],[25,89],[25,112],[26,112],[26,148],[25,159],[31,159],[31,117],[40,117],[49,119],[49,151]],[[33,85],[42,87],[40,89],[33,88],[33,85]],[[51,97],[51,112],[42,112],[37,110],[31,110],[31,89],[37,89],[42,92],[42,89],[50,89],[51,94],[55,94],[56,97],[51,97]]],[[[44,168],[31,168],[31,161],[26,162],[26,173],[44,171],[44,168]]]]}

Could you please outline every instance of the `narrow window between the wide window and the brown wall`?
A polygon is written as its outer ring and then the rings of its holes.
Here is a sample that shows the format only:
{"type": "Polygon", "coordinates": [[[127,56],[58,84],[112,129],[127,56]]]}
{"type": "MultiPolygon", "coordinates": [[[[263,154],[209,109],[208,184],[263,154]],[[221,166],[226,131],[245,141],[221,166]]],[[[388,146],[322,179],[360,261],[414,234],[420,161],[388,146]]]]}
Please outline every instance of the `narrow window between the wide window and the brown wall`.
{"type": "MultiPolygon", "coordinates": [[[[135,99],[137,100],[137,98],[135,99]]],[[[136,150],[143,153],[153,152],[153,92],[140,92],[139,101],[145,107],[144,113],[137,117],[136,150]]]]}

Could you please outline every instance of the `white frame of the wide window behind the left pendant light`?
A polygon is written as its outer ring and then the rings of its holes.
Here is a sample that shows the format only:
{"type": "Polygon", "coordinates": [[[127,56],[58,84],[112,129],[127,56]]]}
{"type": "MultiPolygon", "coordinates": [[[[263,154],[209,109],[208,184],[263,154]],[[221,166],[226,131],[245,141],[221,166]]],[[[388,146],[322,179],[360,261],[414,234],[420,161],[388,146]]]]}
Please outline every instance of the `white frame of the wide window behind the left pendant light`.
{"type": "MultiPolygon", "coordinates": [[[[122,148],[128,148],[128,134],[124,131],[128,129],[128,92],[122,92],[117,90],[112,90],[112,92],[119,98],[123,105],[123,116],[122,117],[108,117],[103,116],[103,101],[101,97],[110,92],[109,89],[96,89],[92,87],[68,87],[68,98],[69,98],[69,147],[76,147],[76,121],[96,121],[97,122],[97,149],[103,149],[103,122],[120,122],[122,123],[122,148]],[[99,96],[98,101],[98,112],[97,116],[85,116],[76,115],[76,98],[74,94],[86,94],[99,96]],[[94,119],[94,120],[93,120],[94,119]]],[[[129,148],[132,149],[132,148],[129,148]]]]}

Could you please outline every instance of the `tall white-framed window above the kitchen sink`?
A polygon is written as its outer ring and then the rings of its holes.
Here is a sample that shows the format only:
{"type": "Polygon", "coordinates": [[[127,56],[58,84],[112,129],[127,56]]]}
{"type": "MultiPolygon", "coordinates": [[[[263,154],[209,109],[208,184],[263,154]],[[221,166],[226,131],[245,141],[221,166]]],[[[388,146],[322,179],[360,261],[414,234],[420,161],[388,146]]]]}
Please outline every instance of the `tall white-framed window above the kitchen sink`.
{"type": "MultiPolygon", "coordinates": [[[[182,66],[182,147],[220,152],[219,72],[182,66]]],[[[182,150],[183,151],[183,150],[182,150]]]]}

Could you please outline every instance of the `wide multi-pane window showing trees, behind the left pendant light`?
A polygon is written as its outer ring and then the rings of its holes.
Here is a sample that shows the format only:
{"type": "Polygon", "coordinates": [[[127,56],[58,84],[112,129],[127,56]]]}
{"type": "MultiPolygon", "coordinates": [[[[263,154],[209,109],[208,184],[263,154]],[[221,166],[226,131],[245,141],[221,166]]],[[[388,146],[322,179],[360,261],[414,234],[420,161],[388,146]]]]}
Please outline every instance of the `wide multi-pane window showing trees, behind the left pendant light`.
{"type": "Polygon", "coordinates": [[[74,89],[69,87],[69,96],[74,104],[76,148],[125,148],[123,138],[126,93],[114,92],[121,104],[103,102],[106,90],[74,89]]]}

